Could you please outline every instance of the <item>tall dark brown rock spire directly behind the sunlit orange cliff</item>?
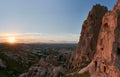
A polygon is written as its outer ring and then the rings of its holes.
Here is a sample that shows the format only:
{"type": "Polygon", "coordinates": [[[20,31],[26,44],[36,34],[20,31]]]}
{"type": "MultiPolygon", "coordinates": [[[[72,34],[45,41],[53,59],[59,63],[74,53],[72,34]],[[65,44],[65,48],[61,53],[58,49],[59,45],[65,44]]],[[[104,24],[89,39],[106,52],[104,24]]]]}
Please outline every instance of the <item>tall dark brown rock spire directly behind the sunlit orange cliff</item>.
{"type": "Polygon", "coordinates": [[[70,59],[70,69],[85,67],[93,59],[102,18],[107,11],[107,7],[96,4],[89,12],[87,20],[83,23],[80,40],[74,56],[70,59]]]}

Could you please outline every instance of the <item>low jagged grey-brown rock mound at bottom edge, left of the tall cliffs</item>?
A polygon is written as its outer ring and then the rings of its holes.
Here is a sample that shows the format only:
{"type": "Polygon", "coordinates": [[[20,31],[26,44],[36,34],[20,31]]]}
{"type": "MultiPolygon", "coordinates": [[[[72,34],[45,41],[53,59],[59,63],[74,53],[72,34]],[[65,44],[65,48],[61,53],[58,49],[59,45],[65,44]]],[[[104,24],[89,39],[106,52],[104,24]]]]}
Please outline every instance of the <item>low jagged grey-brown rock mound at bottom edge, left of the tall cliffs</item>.
{"type": "Polygon", "coordinates": [[[44,58],[34,66],[30,67],[28,72],[19,77],[64,77],[66,69],[63,66],[54,66],[55,61],[46,61],[44,58]],[[49,63],[50,62],[50,63],[49,63]]]}

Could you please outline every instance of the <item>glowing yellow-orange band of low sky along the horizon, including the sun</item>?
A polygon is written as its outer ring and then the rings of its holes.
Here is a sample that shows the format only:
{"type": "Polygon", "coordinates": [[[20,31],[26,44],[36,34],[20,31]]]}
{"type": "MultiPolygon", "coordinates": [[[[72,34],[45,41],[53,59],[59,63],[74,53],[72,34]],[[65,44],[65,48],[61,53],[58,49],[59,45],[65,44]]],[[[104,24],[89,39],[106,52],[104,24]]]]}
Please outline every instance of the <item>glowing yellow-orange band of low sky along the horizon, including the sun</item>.
{"type": "Polygon", "coordinates": [[[78,37],[76,34],[0,33],[0,43],[74,43],[78,37]]]}

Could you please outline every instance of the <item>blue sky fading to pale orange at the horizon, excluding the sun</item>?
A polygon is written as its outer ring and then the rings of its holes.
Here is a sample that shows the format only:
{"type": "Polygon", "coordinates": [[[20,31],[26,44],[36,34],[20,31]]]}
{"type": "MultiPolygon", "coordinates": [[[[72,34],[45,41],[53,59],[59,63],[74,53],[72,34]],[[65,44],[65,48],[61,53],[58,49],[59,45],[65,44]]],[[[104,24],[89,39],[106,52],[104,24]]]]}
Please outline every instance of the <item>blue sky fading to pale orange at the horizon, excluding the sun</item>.
{"type": "Polygon", "coordinates": [[[117,0],[0,0],[0,42],[78,42],[81,26],[96,3],[117,0]]]}

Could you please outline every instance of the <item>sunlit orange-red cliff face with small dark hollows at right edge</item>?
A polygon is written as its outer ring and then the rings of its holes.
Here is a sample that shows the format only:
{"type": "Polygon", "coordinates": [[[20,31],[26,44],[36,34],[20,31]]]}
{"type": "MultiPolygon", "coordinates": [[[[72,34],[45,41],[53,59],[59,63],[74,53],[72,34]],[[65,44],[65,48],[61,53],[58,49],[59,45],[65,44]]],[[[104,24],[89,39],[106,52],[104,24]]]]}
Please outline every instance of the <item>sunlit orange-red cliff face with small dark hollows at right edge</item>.
{"type": "Polygon", "coordinates": [[[103,17],[98,38],[91,76],[120,77],[120,0],[103,17]]]}

